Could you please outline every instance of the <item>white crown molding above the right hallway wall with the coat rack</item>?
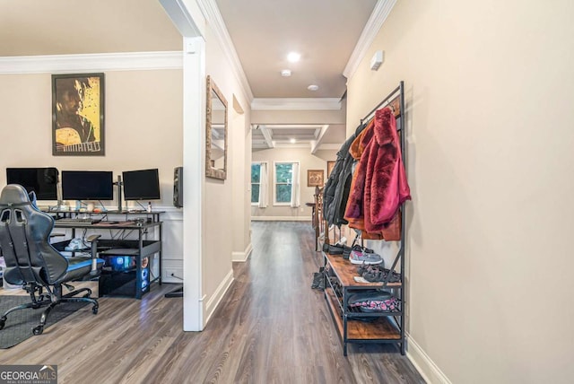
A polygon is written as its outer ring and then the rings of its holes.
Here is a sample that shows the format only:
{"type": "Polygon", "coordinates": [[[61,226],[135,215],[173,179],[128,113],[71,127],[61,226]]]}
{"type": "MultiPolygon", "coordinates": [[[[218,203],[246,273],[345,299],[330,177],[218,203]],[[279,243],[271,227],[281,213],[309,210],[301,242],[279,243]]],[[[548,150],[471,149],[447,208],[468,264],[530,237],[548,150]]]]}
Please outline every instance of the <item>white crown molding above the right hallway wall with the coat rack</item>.
{"type": "Polygon", "coordinates": [[[396,0],[378,0],[377,4],[375,4],[373,12],[370,13],[369,21],[365,24],[361,37],[352,50],[347,65],[344,67],[344,77],[349,79],[355,73],[395,4],[396,0]]]}

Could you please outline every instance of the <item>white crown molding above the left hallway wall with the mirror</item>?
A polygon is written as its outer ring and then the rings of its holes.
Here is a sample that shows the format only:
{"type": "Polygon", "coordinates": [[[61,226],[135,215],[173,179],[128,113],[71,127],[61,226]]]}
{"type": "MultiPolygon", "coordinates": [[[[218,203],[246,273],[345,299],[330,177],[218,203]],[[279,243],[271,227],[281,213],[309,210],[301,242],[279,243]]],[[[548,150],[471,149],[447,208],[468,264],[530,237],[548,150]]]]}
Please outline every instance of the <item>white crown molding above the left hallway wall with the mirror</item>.
{"type": "Polygon", "coordinates": [[[222,13],[219,12],[215,0],[197,0],[197,5],[199,5],[201,12],[204,13],[205,19],[212,28],[215,38],[221,44],[223,54],[229,60],[231,71],[239,81],[246,99],[248,102],[251,102],[251,100],[253,100],[251,86],[249,86],[248,78],[243,71],[243,66],[239,61],[239,56],[237,55],[233,41],[231,41],[230,33],[227,31],[225,22],[223,22],[222,13]]]}

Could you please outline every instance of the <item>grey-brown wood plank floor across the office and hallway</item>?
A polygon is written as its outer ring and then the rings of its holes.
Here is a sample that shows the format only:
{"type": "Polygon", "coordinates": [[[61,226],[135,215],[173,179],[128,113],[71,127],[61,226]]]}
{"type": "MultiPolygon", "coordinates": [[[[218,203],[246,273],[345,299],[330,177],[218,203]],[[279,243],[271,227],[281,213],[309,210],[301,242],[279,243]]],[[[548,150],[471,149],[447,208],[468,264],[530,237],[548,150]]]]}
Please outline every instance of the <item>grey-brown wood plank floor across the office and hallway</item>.
{"type": "MultiPolygon", "coordinates": [[[[203,332],[183,332],[182,299],[101,298],[11,349],[0,364],[57,364],[59,383],[419,383],[393,345],[343,349],[310,223],[254,222],[253,253],[203,332]]],[[[0,296],[2,300],[2,296],[0,296]]]]}

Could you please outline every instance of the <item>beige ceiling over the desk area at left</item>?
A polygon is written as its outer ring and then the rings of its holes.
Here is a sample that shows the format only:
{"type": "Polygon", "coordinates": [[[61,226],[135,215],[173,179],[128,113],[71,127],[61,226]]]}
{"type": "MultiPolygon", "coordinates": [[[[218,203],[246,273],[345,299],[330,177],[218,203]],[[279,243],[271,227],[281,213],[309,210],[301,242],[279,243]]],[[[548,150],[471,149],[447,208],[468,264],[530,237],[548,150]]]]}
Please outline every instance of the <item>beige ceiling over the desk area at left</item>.
{"type": "Polygon", "coordinates": [[[181,50],[158,0],[0,0],[0,57],[181,50]]]}

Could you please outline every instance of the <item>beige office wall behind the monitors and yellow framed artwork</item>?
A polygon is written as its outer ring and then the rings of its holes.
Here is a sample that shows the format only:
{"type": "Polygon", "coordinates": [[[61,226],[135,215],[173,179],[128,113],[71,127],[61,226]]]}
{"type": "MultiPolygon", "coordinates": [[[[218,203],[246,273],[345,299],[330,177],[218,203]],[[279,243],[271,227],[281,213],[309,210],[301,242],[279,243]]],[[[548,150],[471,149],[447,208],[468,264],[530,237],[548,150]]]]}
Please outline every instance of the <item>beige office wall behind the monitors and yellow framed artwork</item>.
{"type": "MultiPolygon", "coordinates": [[[[41,58],[39,58],[41,60],[41,58]]],[[[63,61],[65,65],[65,60],[63,61]]],[[[92,71],[93,72],[93,71],[92,71]]],[[[70,71],[72,73],[72,71],[70,71]]],[[[122,170],[158,168],[161,200],[156,210],[167,211],[163,224],[163,267],[181,276],[181,210],[174,208],[173,169],[182,162],[181,70],[104,71],[105,156],[53,156],[50,74],[0,74],[0,185],[4,168],[48,167],[58,170],[122,170]]],[[[117,208],[113,201],[102,203],[117,208]]],[[[123,202],[132,206],[134,202],[123,202]]],[[[40,201],[40,205],[56,202],[40,201]]],[[[70,202],[74,205],[74,202],[70,202]]],[[[168,281],[178,282],[168,278],[168,281]]]]}

